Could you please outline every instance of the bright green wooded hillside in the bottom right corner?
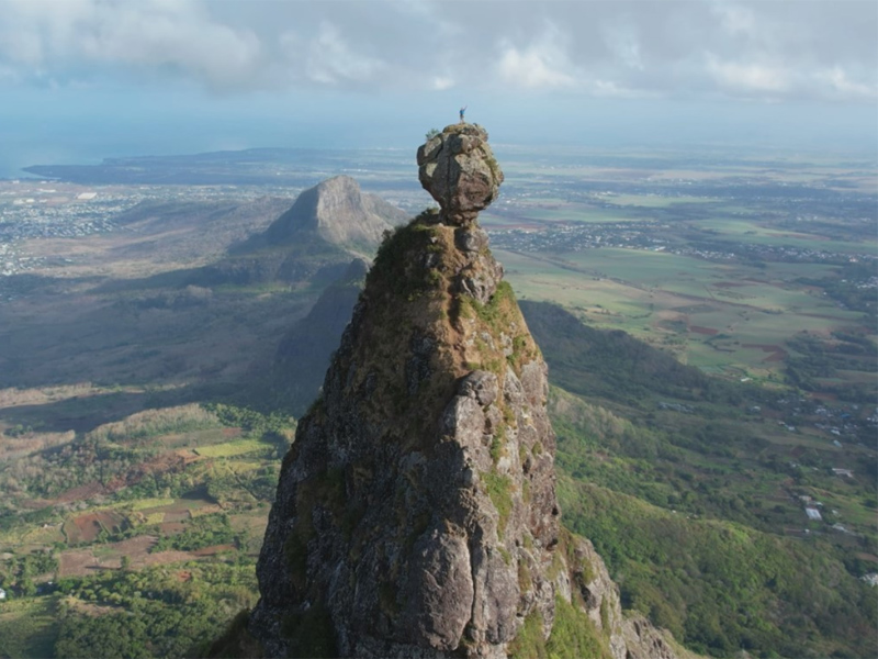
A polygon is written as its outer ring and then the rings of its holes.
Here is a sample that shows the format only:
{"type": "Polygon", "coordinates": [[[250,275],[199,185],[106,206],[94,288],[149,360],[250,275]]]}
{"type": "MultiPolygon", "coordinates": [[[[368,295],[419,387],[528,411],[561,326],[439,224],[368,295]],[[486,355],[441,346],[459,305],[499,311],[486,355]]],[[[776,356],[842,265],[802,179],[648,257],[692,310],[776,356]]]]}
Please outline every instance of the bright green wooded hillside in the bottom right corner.
{"type": "Polygon", "coordinates": [[[691,649],[731,657],[868,657],[878,606],[829,543],[694,520],[563,477],[564,520],[592,539],[622,605],[691,649]]]}

